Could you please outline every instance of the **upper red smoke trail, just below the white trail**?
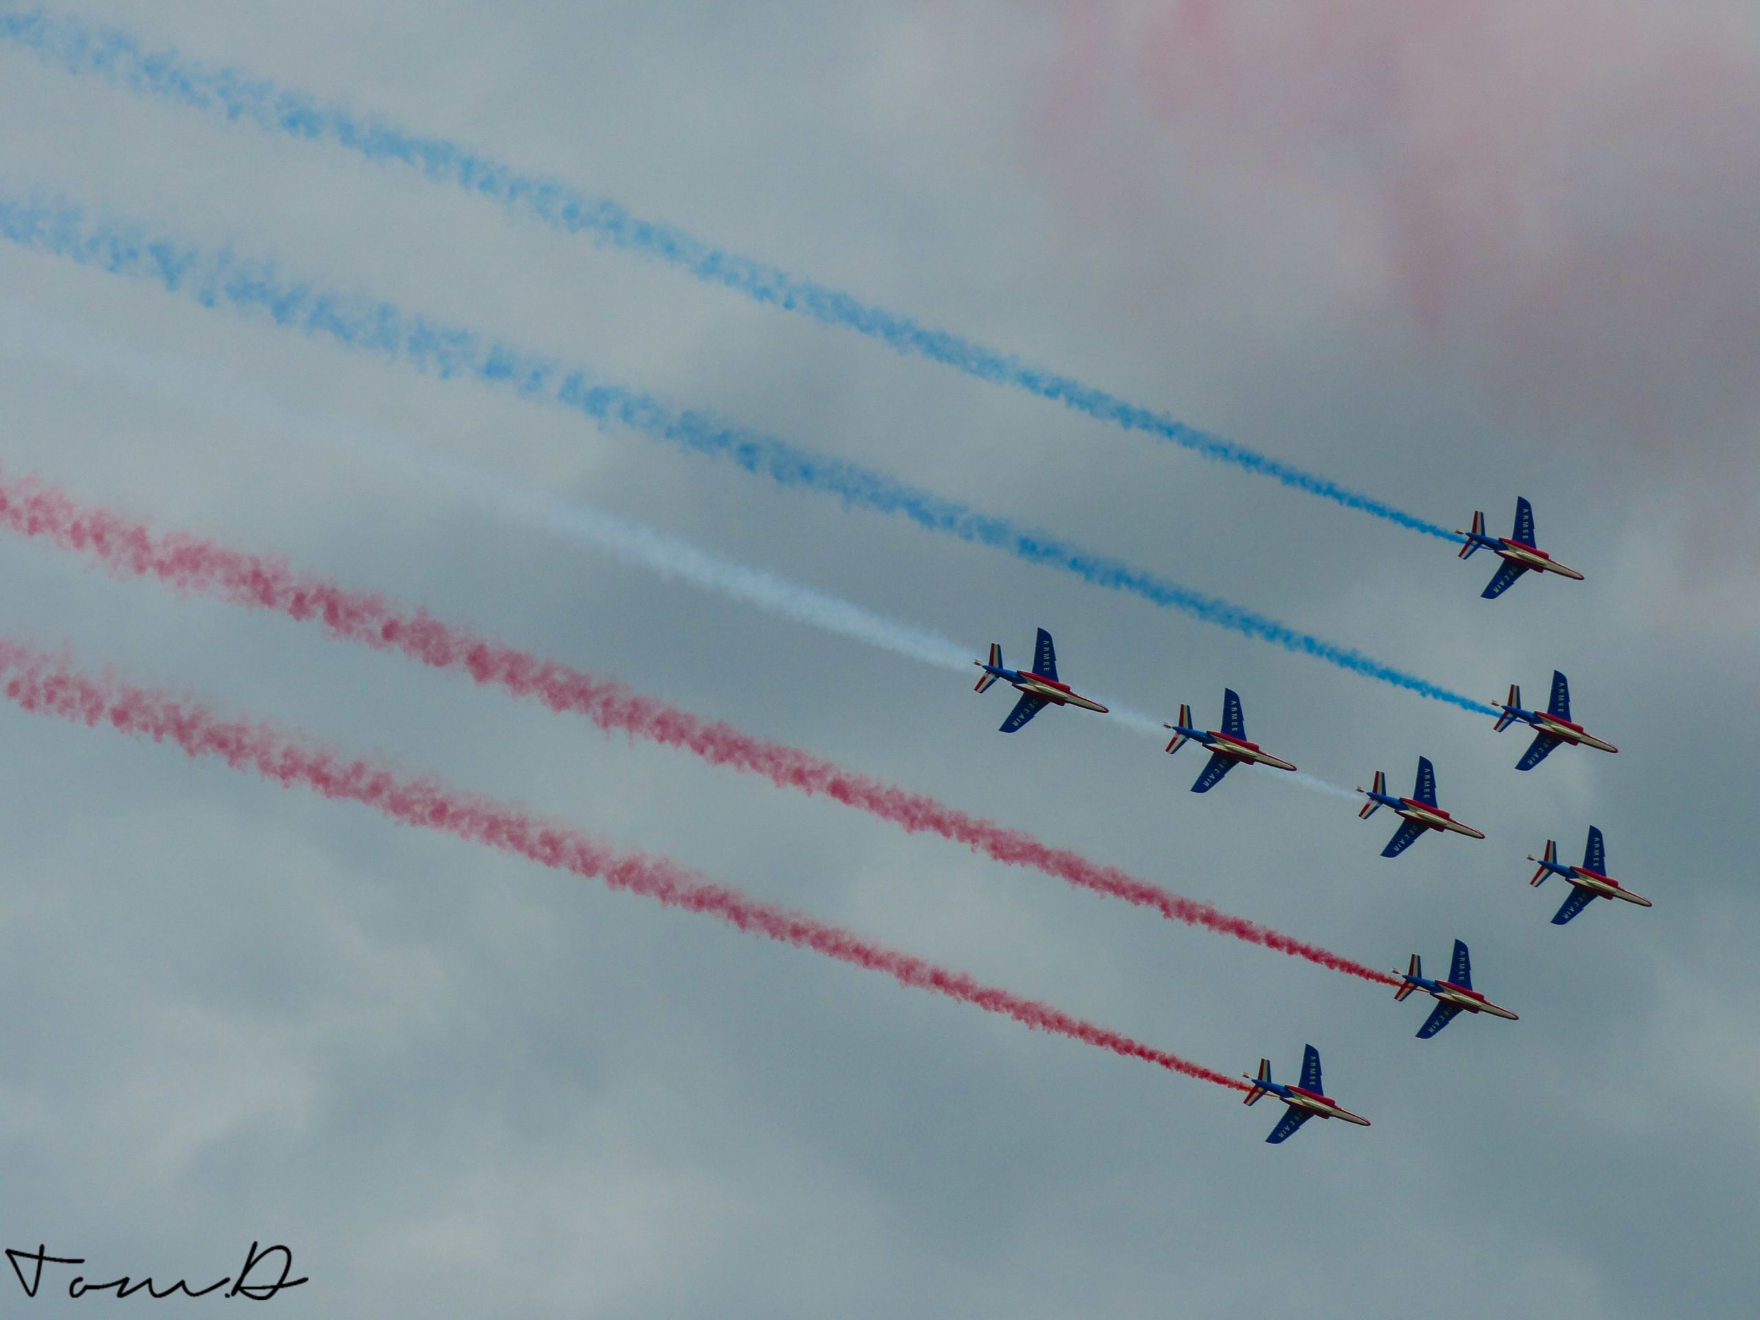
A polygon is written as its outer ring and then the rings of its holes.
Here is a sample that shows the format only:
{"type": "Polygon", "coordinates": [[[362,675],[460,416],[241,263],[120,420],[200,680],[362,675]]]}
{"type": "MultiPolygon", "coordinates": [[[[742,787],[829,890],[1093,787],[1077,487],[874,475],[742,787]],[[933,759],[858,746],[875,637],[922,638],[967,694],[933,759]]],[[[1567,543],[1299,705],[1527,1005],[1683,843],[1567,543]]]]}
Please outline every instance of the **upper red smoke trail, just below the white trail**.
{"type": "Polygon", "coordinates": [[[322,623],[334,637],[380,651],[401,651],[435,669],[461,671],[477,683],[540,700],[553,711],[584,715],[600,729],[685,748],[715,766],[762,774],[783,788],[825,794],[912,832],[940,834],[1000,862],[1031,866],[1072,885],[1153,908],[1169,920],[1202,926],[1292,957],[1306,957],[1309,963],[1364,980],[1399,984],[1394,977],[1320,945],[1295,940],[1244,917],[1230,917],[1209,903],[1181,898],[1116,866],[1100,866],[1075,852],[1047,847],[1031,834],[982,820],[933,797],[905,792],[866,774],[840,769],[797,748],[702,720],[642,697],[621,683],[598,679],[554,660],[488,641],[426,611],[408,611],[378,595],[350,591],[320,577],[296,574],[282,560],[227,549],[187,533],[155,535],[143,523],[107,509],[79,505],[63,491],[30,480],[0,479],[0,526],[90,554],[120,576],[158,577],[183,591],[201,591],[255,609],[273,609],[299,621],[322,623]]]}

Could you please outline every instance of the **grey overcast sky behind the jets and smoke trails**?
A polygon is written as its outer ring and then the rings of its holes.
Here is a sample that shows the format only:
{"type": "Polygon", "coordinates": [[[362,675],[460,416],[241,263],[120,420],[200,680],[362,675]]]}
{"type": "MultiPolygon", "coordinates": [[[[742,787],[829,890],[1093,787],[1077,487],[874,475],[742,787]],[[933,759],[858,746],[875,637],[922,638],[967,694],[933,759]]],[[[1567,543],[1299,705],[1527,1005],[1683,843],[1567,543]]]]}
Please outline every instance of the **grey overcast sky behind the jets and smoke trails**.
{"type": "MultiPolygon", "coordinates": [[[[1035,831],[1415,1001],[0,539],[0,634],[526,803],[1373,1128],[1265,1105],[216,764],[0,709],[0,1237],[192,1283],[287,1243],[324,1316],[1748,1316],[1760,1294],[1760,32],[1498,0],[83,0],[148,46],[554,174],[1584,583],[760,308],[331,146],[0,46],[0,185],[505,334],[1119,554],[1617,757],[899,517],[0,243],[0,470],[285,554],[1035,831]],[[1299,11],[1299,12],[1295,12],[1299,11]],[[1320,12],[1324,11],[1324,12],[1320,12]],[[495,470],[1213,725],[1338,785],[1420,753],[1484,843],[593,554],[495,470]],[[1012,695],[1012,693],[1010,693],[1012,695]],[[1549,924],[1547,838],[1651,910],[1549,924]]],[[[1616,908],[1617,910],[1612,910],[1616,908]]],[[[0,1280],[0,1292],[16,1287],[0,1280]]],[[[48,1288],[46,1288],[48,1292],[48,1288]]],[[[72,1304],[19,1294],[9,1315],[72,1304]]],[[[102,1306],[102,1302],[95,1302],[102,1306]]],[[[218,1301],[190,1304],[222,1306],[218,1301]]]]}

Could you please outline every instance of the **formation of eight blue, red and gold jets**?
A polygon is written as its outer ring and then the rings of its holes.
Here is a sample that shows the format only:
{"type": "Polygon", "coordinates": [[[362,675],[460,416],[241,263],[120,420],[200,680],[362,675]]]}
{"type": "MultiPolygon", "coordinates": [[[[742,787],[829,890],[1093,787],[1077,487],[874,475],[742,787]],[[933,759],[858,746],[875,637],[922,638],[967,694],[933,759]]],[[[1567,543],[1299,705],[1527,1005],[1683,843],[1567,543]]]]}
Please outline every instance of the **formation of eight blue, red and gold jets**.
{"type": "MultiPolygon", "coordinates": [[[[1473,514],[1471,532],[1457,532],[1456,535],[1464,539],[1464,544],[1461,546],[1463,560],[1470,558],[1478,549],[1489,549],[1501,560],[1498,572],[1480,593],[1487,600],[1501,597],[1522,574],[1528,572],[1558,574],[1559,577],[1568,577],[1579,583],[1582,581],[1580,572],[1558,563],[1551,554],[1535,544],[1535,512],[1528,500],[1517,498],[1515,530],[1508,537],[1487,535],[1485,516],[1482,512],[1473,514]]],[[[1058,679],[1056,648],[1051,642],[1051,634],[1044,628],[1038,630],[1031,669],[1017,671],[1003,667],[1001,646],[996,642],[991,642],[989,660],[973,660],[973,664],[984,671],[984,676],[977,683],[979,692],[986,692],[993,683],[1001,679],[1021,693],[1021,699],[1008,713],[1008,718],[1001,723],[1001,732],[1005,734],[1019,732],[1028,720],[1038,715],[1045,706],[1075,706],[1084,711],[1096,711],[1100,715],[1107,713],[1105,706],[1091,700],[1089,697],[1082,697],[1074,692],[1070,685],[1058,679]]],[[[1600,752],[1619,750],[1612,743],[1588,732],[1580,723],[1572,722],[1570,683],[1559,671],[1552,671],[1552,697],[1544,711],[1526,709],[1522,706],[1521,688],[1515,685],[1510,685],[1508,700],[1494,702],[1494,706],[1500,711],[1496,732],[1503,732],[1514,723],[1526,723],[1535,730],[1533,743],[1528,744],[1521,760],[1515,762],[1515,769],[1519,771],[1531,771],[1545,760],[1554,748],[1566,743],[1572,746],[1596,748],[1600,752]]],[[[1258,743],[1248,741],[1241,695],[1234,688],[1223,688],[1221,729],[1199,729],[1192,722],[1190,706],[1181,706],[1179,718],[1174,723],[1163,725],[1163,729],[1170,729],[1174,732],[1172,739],[1167,743],[1169,753],[1177,752],[1186,743],[1197,743],[1209,752],[1209,760],[1204,764],[1197,781],[1192,785],[1192,792],[1195,794],[1214,788],[1236,766],[1265,766],[1281,771],[1295,769],[1292,762],[1271,755],[1258,743]]],[[[1389,794],[1387,776],[1382,771],[1375,773],[1373,787],[1359,787],[1357,792],[1369,799],[1357,813],[1360,818],[1368,820],[1383,806],[1401,817],[1399,829],[1394,831],[1392,840],[1389,840],[1387,847],[1382,848],[1383,857],[1397,857],[1429,832],[1466,834],[1475,840],[1485,838],[1482,831],[1456,820],[1448,811],[1438,806],[1436,767],[1431,764],[1429,757],[1419,757],[1417,783],[1412,788],[1410,797],[1396,797],[1389,794]]],[[[1535,871],[1535,876],[1529,882],[1531,885],[1540,885],[1547,876],[1556,875],[1570,887],[1563,906],[1558,910],[1558,915],[1552,917],[1554,926],[1565,926],[1596,898],[1621,899],[1646,908],[1651,906],[1647,898],[1633,894],[1630,889],[1607,875],[1607,855],[1602,841],[1602,831],[1595,825],[1589,825],[1589,843],[1584,852],[1582,866],[1561,864],[1558,861],[1558,845],[1552,840],[1545,841],[1544,855],[1529,857],[1528,861],[1540,868],[1535,871]]],[[[1468,959],[1466,945],[1461,940],[1454,942],[1454,957],[1448,964],[1447,980],[1427,979],[1424,975],[1424,964],[1419,961],[1417,954],[1412,954],[1412,963],[1404,972],[1394,972],[1392,975],[1399,979],[1399,986],[1394,991],[1396,1001],[1403,1001],[1415,993],[1424,993],[1436,1001],[1417,1031],[1420,1040],[1429,1040],[1463,1012],[1501,1017],[1512,1023],[1517,1021],[1514,1012],[1492,1003],[1480,991],[1473,989],[1473,970],[1468,959]]],[[[1313,1045],[1306,1045],[1302,1054],[1301,1084],[1274,1082],[1271,1079],[1269,1060],[1258,1061],[1257,1074],[1243,1075],[1248,1082],[1251,1082],[1246,1093],[1248,1105],[1258,1104],[1267,1095],[1276,1096],[1285,1104],[1283,1118],[1278,1119],[1271,1135],[1265,1137],[1267,1142],[1278,1144],[1287,1140],[1297,1128],[1302,1126],[1302,1123],[1316,1116],[1338,1118],[1346,1123],[1369,1126],[1369,1119],[1350,1112],[1325,1095],[1325,1089],[1320,1084],[1320,1051],[1313,1045]]]]}

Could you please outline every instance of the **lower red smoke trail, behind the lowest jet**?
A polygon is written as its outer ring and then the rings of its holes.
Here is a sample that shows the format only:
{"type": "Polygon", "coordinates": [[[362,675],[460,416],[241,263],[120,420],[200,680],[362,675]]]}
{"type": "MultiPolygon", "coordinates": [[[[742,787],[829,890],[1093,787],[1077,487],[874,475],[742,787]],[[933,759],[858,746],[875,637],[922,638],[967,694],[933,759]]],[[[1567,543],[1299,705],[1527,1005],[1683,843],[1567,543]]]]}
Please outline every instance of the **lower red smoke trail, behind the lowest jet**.
{"type": "Polygon", "coordinates": [[[936,991],[950,1000],[1003,1014],[1035,1030],[1052,1031],[1114,1054],[1155,1063],[1169,1072],[1199,1077],[1216,1086],[1248,1089],[1199,1063],[1144,1045],[1093,1023],[984,986],[963,972],[928,963],[827,926],[801,912],[746,898],[727,885],[715,885],[660,857],[616,854],[565,825],[546,824],[517,806],[459,792],[431,778],[408,778],[373,760],[347,760],[336,752],[283,734],[266,723],[222,720],[215,713],[114,681],[97,681],[65,662],[16,642],[0,642],[0,672],[9,700],[39,715],[56,715],[74,723],[109,723],[125,734],[176,743],[190,757],[218,757],[232,769],[252,771],[285,788],[304,787],[347,803],[363,803],[405,825],[445,831],[468,843],[570,871],[586,880],[604,880],[612,889],[658,899],[672,908],[700,912],[737,926],[750,935],[792,943],[843,963],[884,972],[903,986],[936,991]]]}

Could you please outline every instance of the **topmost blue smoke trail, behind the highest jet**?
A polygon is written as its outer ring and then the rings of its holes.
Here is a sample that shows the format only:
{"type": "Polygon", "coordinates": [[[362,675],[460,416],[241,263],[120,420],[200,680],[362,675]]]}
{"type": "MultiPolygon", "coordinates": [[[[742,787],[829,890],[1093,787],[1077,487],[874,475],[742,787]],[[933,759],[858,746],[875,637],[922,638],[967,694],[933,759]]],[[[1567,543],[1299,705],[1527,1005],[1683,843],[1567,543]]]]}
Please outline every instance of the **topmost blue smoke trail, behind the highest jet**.
{"type": "Polygon", "coordinates": [[[320,106],[308,93],[278,88],[269,79],[236,69],[208,69],[178,51],[143,51],[139,40],[127,32],[90,26],[74,18],[51,18],[44,11],[0,16],[0,40],[26,48],[69,72],[97,74],[137,95],[220,114],[234,123],[253,123],[269,132],[333,143],[368,160],[410,165],[429,180],[500,202],[516,216],[539,220],[567,234],[586,234],[600,246],[662,260],[757,303],[866,334],[898,354],[928,357],[979,380],[1024,389],[1126,431],[1142,431],[1216,463],[1272,477],[1297,491],[1413,532],[1461,540],[1448,528],[1232,440],[1199,431],[1167,414],[1126,403],[1104,389],[1023,363],[959,334],[929,329],[815,280],[716,248],[672,225],[642,220],[607,197],[590,197],[558,180],[519,174],[458,143],[410,134],[384,120],[352,114],[341,106],[320,106]]]}

